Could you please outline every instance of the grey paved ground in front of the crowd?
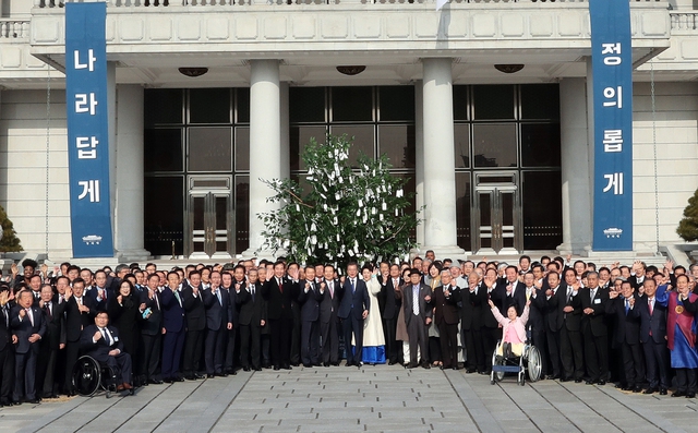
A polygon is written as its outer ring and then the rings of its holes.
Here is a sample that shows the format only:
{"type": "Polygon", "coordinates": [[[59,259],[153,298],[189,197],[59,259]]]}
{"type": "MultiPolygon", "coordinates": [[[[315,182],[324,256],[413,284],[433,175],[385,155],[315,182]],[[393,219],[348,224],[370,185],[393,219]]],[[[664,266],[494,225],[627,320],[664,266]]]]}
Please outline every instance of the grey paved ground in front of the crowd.
{"type": "Polygon", "coordinates": [[[399,366],[294,368],[0,409],[0,432],[698,432],[696,399],[399,366]]]}

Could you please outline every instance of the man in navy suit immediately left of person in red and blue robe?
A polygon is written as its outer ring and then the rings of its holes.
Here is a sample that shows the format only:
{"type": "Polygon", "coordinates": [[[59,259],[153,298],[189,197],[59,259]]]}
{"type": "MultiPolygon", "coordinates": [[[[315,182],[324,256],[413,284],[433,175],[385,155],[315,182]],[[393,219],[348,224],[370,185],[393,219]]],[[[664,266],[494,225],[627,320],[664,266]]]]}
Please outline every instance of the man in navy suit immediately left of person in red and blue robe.
{"type": "Polygon", "coordinates": [[[647,278],[642,284],[645,293],[635,301],[640,317],[640,341],[647,363],[647,381],[649,387],[645,394],[659,390],[666,395],[671,385],[669,380],[670,358],[666,348],[666,286],[657,287],[657,282],[647,278]]]}

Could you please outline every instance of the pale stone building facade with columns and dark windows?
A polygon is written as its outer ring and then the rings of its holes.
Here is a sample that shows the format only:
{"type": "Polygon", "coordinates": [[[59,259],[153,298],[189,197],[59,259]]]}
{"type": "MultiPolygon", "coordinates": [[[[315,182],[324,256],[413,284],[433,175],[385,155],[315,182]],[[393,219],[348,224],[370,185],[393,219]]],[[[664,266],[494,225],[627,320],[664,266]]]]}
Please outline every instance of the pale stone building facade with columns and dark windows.
{"type": "MultiPolygon", "coordinates": [[[[697,7],[630,1],[635,253],[679,241],[698,187],[697,7]]],[[[422,250],[593,254],[588,8],[108,2],[115,255],[255,255],[260,179],[302,182],[326,133],[409,179],[422,250]]],[[[0,204],[56,260],[72,256],[63,12],[3,0],[0,20],[0,204]]]]}

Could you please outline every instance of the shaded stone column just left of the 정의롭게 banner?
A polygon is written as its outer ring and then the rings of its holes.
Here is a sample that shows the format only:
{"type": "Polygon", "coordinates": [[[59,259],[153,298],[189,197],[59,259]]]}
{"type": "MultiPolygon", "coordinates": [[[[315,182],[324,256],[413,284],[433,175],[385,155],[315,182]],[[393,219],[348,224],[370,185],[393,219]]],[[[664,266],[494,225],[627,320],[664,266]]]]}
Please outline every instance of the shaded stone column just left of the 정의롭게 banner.
{"type": "MultiPolygon", "coordinates": [[[[591,248],[592,168],[589,143],[593,119],[587,117],[590,77],[559,82],[561,175],[563,191],[563,243],[561,254],[585,254],[591,248]]],[[[592,134],[592,133],[591,133],[592,134]]]]}

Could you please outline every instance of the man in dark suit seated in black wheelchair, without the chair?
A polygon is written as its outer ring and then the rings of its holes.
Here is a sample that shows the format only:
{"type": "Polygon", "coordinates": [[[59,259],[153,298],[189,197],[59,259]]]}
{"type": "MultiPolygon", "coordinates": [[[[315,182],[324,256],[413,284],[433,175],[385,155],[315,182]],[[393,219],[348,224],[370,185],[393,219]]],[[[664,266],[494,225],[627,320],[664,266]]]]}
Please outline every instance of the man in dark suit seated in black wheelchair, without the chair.
{"type": "Polygon", "coordinates": [[[131,385],[131,356],[123,351],[119,340],[119,332],[109,326],[109,315],[100,311],[95,316],[95,324],[83,329],[81,336],[83,354],[94,358],[116,372],[117,390],[133,389],[131,385]]]}

